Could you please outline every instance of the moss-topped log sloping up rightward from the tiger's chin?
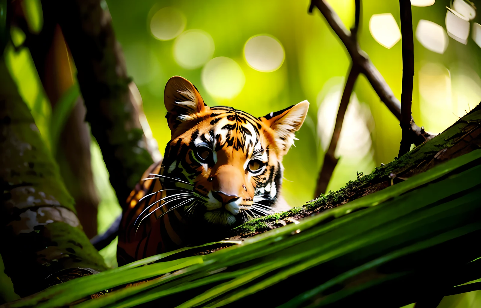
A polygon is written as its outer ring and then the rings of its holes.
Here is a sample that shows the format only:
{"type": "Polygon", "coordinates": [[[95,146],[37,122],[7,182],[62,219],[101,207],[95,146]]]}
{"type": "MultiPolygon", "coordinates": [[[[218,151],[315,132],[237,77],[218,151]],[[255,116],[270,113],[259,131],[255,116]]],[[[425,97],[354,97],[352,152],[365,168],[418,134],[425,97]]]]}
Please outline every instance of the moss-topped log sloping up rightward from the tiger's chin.
{"type": "Polygon", "coordinates": [[[235,228],[231,240],[251,237],[255,234],[296,222],[329,208],[346,204],[357,198],[380,191],[418,173],[422,173],[451,158],[467,154],[481,148],[481,104],[466,116],[431,140],[417,146],[412,151],[381,165],[368,174],[358,173],[357,180],[350,181],[337,192],[320,195],[303,206],[274,215],[256,218],[235,228]]]}

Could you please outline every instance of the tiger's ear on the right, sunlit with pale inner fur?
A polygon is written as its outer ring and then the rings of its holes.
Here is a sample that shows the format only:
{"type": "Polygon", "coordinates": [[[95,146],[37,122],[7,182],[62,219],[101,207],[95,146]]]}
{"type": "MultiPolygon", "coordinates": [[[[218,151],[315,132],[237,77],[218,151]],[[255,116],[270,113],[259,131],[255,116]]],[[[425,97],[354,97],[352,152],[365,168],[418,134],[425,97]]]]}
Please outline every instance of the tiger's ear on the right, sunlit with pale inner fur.
{"type": "Polygon", "coordinates": [[[303,101],[278,112],[271,112],[270,114],[260,118],[276,133],[275,140],[282,154],[286,154],[297,140],[294,132],[298,131],[304,123],[309,109],[309,102],[303,101]]]}

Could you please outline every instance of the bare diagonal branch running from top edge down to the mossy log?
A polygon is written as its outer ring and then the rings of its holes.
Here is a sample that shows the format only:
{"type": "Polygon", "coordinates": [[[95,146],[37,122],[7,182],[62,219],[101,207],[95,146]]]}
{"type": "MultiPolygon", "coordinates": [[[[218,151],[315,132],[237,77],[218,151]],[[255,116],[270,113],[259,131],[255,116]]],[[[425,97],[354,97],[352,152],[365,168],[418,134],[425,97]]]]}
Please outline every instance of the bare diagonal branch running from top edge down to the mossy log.
{"type": "MultiPolygon", "coordinates": [[[[366,52],[361,50],[355,36],[346,29],[339,16],[326,0],[312,0],[309,12],[312,12],[314,7],[319,9],[324,18],[326,18],[329,26],[334,30],[339,39],[341,39],[353,63],[360,67],[360,72],[367,77],[367,80],[369,80],[381,101],[398,120],[401,120],[401,103],[399,103],[399,100],[394,96],[386,80],[384,80],[380,72],[371,62],[366,52]]],[[[411,121],[411,129],[413,131],[413,134],[411,134],[411,143],[416,145],[433,137],[430,133],[425,132],[423,128],[419,128],[416,123],[414,123],[414,120],[411,121]]]]}

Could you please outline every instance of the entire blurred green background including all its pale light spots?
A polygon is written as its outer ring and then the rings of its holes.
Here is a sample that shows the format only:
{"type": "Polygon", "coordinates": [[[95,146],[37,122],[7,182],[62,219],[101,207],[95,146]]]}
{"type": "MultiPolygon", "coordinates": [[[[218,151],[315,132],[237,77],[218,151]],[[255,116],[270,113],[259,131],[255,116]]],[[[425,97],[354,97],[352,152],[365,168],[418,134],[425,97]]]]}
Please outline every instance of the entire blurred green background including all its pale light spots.
{"type": "MultiPolygon", "coordinates": [[[[39,1],[24,2],[29,27],[41,28],[39,1]]],[[[347,28],[354,25],[354,0],[329,3],[347,28]]],[[[412,114],[419,126],[440,133],[481,101],[481,26],[475,10],[479,3],[411,3],[415,36],[412,114]]],[[[103,1],[160,152],[170,139],[164,87],[174,75],[189,79],[208,105],[229,105],[253,116],[308,100],[309,114],[296,135],[299,141],[284,157],[282,192],[291,206],[313,199],[351,62],[321,14],[317,10],[308,14],[308,6],[308,0],[103,1]]],[[[398,99],[402,77],[399,27],[397,1],[362,1],[360,46],[398,99]]],[[[19,29],[12,28],[11,34],[13,45],[25,39],[19,29]]],[[[55,152],[55,128],[61,125],[56,120],[61,111],[51,107],[29,50],[9,45],[5,59],[42,138],[55,152]]],[[[65,65],[75,76],[75,64],[65,65]]],[[[72,91],[75,98],[78,88],[72,91]]],[[[392,161],[400,140],[399,122],[360,76],[344,119],[336,152],[340,161],[328,191],[355,180],[356,172],[368,174],[392,161]]],[[[101,233],[121,209],[93,138],[90,152],[99,199],[97,231],[101,233]]],[[[113,242],[101,251],[110,266],[116,266],[115,247],[113,242]]]]}

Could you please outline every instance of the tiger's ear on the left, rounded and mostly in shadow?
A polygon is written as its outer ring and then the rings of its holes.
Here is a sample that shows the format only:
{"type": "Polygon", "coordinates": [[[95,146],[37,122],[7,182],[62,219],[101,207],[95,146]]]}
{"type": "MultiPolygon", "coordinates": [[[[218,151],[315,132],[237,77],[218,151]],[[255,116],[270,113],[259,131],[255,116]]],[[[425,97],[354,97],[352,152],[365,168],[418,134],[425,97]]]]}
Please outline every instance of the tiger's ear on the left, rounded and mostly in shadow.
{"type": "Polygon", "coordinates": [[[205,110],[201,94],[184,77],[171,77],[165,85],[164,104],[167,109],[167,123],[171,130],[183,121],[197,118],[197,113],[205,110]]]}

